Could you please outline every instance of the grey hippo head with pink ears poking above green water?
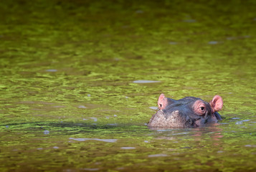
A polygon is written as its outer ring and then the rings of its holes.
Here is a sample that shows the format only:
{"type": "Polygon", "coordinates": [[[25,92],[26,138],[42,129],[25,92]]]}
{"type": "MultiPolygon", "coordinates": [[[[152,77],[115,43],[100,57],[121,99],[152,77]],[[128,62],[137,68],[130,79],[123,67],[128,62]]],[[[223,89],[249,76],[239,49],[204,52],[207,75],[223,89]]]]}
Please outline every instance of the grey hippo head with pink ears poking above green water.
{"type": "Polygon", "coordinates": [[[196,128],[222,120],[217,113],[223,106],[219,95],[205,102],[197,97],[174,100],[161,94],[157,104],[158,111],[149,120],[149,128],[196,128]]]}

